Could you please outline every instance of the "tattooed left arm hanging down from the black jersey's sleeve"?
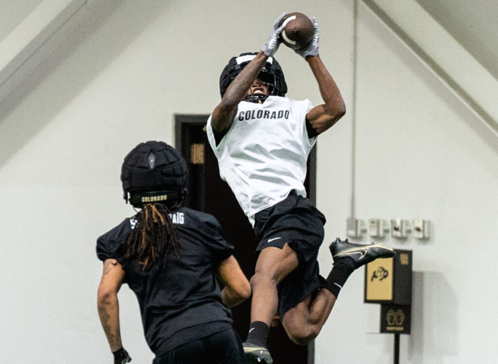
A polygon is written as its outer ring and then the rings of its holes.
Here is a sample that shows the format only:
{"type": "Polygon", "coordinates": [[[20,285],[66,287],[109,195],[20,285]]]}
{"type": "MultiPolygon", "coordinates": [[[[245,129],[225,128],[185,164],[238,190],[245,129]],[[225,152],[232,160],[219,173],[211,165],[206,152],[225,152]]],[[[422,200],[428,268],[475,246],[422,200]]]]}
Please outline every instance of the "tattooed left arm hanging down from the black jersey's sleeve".
{"type": "Polygon", "coordinates": [[[118,291],[124,279],[124,270],[116,259],[106,259],[97,291],[99,318],[112,352],[123,347],[121,342],[118,291]]]}

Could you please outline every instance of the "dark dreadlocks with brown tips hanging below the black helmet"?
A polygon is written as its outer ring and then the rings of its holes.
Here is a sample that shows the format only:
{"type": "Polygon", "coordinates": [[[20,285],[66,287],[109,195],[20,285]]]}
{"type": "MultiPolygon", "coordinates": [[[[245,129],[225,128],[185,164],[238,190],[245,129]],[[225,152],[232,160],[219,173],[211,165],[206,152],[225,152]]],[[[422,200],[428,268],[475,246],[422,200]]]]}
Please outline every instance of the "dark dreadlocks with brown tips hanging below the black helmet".
{"type": "Polygon", "coordinates": [[[161,262],[164,265],[168,254],[179,255],[180,246],[170,213],[164,204],[143,206],[136,216],[138,223],[126,240],[124,264],[136,257],[142,270],[150,270],[161,262]]]}

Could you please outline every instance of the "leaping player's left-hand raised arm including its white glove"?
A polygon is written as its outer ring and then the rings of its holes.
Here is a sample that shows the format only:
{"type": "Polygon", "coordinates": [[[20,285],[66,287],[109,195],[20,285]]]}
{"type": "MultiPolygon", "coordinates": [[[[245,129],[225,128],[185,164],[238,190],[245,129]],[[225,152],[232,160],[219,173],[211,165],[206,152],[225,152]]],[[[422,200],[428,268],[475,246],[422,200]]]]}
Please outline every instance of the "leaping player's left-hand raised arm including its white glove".
{"type": "Polygon", "coordinates": [[[279,23],[286,14],[284,12],[275,20],[273,30],[267,42],[263,44],[256,57],[232,81],[227,92],[223,95],[220,104],[213,111],[211,125],[214,131],[223,131],[232,126],[235,114],[237,113],[237,106],[244,100],[250,85],[256,79],[257,75],[259,75],[268,57],[273,56],[280,45],[278,35],[282,32],[283,25],[279,26],[279,23]]]}

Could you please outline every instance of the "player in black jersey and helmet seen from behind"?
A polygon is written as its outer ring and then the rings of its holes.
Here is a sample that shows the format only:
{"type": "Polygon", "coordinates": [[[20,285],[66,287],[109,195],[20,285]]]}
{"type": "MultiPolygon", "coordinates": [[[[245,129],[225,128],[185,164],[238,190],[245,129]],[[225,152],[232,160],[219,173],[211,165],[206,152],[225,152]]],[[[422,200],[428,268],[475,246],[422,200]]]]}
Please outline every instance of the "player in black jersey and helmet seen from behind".
{"type": "Polygon", "coordinates": [[[140,143],[121,179],[125,200],[141,210],[97,240],[98,311],[114,363],[131,361],[120,333],[123,283],[138,299],[153,364],[246,363],[229,307],[249,298],[249,281],[218,221],[182,207],[185,160],[164,142],[140,143]]]}

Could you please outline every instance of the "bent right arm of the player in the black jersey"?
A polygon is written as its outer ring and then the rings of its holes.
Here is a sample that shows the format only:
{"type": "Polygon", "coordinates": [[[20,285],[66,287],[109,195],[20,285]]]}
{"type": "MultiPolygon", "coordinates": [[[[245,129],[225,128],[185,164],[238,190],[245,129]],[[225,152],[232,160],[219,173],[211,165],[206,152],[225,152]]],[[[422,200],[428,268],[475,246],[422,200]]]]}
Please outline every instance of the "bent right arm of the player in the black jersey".
{"type": "Polygon", "coordinates": [[[249,298],[249,281],[233,255],[220,263],[217,276],[225,286],[221,297],[227,307],[237,306],[249,298]]]}

